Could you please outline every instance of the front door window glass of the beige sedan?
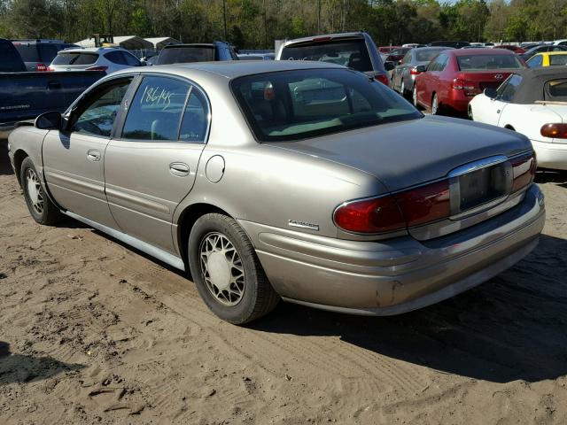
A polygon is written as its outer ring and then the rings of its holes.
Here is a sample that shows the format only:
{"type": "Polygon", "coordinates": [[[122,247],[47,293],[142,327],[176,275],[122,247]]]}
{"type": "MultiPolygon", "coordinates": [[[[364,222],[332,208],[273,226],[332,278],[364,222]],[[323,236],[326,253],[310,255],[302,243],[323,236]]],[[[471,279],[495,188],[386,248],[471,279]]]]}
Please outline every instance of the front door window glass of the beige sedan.
{"type": "Polygon", "coordinates": [[[80,107],[73,131],[85,135],[110,137],[114,120],[126,95],[131,78],[105,84],[80,107]]]}

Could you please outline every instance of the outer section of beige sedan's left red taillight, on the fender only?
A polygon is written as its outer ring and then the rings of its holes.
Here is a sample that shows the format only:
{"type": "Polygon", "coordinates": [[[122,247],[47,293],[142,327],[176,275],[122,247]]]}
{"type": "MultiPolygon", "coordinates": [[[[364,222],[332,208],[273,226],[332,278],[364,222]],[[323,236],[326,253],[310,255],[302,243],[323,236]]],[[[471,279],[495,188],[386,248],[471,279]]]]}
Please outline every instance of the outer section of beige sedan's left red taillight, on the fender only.
{"type": "Polygon", "coordinates": [[[355,233],[384,233],[406,226],[392,196],[346,203],[335,210],[334,219],[339,228],[355,233]]]}

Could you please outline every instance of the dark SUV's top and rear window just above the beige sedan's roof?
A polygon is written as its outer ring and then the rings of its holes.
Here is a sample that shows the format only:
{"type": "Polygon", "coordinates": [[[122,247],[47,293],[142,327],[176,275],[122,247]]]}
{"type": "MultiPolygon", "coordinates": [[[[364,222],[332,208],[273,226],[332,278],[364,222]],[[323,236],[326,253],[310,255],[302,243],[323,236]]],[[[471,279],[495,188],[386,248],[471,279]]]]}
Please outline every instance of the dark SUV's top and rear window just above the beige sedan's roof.
{"type": "Polygon", "coordinates": [[[159,52],[156,65],[217,60],[238,60],[234,47],[227,42],[170,44],[159,52]]]}

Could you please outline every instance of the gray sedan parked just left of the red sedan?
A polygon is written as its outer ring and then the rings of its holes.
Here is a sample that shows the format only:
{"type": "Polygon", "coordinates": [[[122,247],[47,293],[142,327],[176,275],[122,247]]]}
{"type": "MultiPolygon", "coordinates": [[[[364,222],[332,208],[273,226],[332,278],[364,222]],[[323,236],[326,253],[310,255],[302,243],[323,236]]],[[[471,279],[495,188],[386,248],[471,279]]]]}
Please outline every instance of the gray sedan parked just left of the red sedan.
{"type": "MultiPolygon", "coordinates": [[[[410,96],[414,92],[416,76],[420,74],[417,66],[428,66],[432,58],[435,58],[443,50],[451,50],[452,47],[420,47],[409,50],[401,59],[399,66],[392,71],[392,89],[402,96],[410,96]]],[[[422,69],[422,68],[420,68],[422,69]]]]}

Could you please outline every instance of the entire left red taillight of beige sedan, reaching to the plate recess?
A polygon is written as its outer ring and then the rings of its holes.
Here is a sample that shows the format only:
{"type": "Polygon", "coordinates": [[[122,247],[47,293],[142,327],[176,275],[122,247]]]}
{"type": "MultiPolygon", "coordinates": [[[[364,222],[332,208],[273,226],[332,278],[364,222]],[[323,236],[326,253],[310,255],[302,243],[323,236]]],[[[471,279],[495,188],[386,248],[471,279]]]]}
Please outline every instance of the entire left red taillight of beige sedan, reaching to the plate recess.
{"type": "Polygon", "coordinates": [[[445,219],[451,215],[448,181],[435,182],[386,197],[353,201],[335,210],[339,228],[355,233],[384,233],[445,219]]]}

